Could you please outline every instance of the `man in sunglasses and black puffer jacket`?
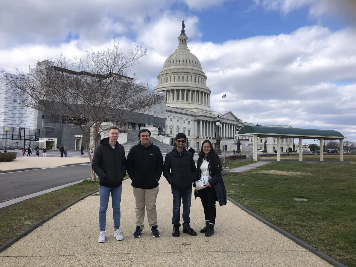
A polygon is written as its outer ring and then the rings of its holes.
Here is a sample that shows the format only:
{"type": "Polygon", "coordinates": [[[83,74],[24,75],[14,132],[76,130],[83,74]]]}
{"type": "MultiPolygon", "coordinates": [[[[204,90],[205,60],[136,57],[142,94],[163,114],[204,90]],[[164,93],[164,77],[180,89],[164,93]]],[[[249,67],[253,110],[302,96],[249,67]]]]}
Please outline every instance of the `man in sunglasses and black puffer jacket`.
{"type": "Polygon", "coordinates": [[[179,236],[180,227],[180,201],[183,201],[183,233],[197,235],[190,228],[190,204],[192,203],[192,184],[195,182],[196,171],[192,153],[184,148],[187,136],[178,133],[176,136],[176,147],[167,153],[164,160],[163,175],[172,187],[173,194],[173,232],[175,237],[179,236]]]}

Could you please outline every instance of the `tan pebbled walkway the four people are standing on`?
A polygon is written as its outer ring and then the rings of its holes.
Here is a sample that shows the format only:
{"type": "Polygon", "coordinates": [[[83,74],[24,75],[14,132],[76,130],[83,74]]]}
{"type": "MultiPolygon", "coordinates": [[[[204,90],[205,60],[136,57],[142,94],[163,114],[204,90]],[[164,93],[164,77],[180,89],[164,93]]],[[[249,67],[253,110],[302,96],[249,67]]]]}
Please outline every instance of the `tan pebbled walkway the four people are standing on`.
{"type": "Polygon", "coordinates": [[[230,201],[226,206],[217,207],[215,234],[205,237],[199,233],[205,223],[203,207],[200,199],[192,197],[191,227],[198,236],[181,232],[180,237],[172,237],[173,197],[164,177],[160,180],[157,198],[161,236],[152,237],[145,219],[145,229],[141,237],[135,239],[132,237],[135,200],[131,180],[125,180],[122,186],[123,241],[113,236],[109,204],[106,242],[98,242],[99,196],[91,195],[0,253],[0,266],[332,266],[230,201]]]}

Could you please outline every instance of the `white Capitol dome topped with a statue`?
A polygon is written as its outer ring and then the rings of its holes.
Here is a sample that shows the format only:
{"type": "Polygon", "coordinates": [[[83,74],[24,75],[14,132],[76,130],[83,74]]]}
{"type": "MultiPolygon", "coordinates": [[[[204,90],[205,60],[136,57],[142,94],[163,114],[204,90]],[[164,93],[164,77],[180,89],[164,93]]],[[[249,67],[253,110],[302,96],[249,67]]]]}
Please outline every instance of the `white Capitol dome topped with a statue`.
{"type": "Polygon", "coordinates": [[[167,106],[210,110],[211,91],[205,84],[207,77],[199,59],[188,49],[187,40],[183,22],[178,48],[164,62],[155,91],[166,93],[167,106]]]}

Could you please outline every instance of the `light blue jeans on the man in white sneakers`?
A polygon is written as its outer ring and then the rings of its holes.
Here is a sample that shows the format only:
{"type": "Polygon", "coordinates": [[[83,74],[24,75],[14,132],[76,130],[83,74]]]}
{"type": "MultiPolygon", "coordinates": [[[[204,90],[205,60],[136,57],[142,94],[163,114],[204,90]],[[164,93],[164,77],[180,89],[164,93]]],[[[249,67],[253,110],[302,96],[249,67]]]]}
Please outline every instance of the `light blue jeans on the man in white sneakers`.
{"type": "Polygon", "coordinates": [[[111,193],[112,216],[114,217],[115,230],[120,229],[120,203],[121,203],[122,185],[119,187],[105,187],[99,185],[100,207],[99,207],[99,227],[100,231],[105,231],[106,210],[108,209],[109,197],[111,193]]]}

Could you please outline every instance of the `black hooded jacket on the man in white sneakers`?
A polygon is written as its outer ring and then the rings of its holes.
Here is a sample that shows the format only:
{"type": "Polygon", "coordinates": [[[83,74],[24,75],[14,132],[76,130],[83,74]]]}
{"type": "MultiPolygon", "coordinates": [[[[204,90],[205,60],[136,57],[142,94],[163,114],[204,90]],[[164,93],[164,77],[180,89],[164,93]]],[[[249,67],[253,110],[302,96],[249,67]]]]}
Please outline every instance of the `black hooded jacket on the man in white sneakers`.
{"type": "Polygon", "coordinates": [[[126,176],[124,147],[116,141],[115,149],[112,149],[109,137],[102,139],[94,152],[91,168],[98,174],[101,186],[119,187],[126,176]]]}

